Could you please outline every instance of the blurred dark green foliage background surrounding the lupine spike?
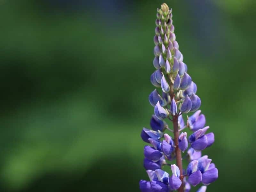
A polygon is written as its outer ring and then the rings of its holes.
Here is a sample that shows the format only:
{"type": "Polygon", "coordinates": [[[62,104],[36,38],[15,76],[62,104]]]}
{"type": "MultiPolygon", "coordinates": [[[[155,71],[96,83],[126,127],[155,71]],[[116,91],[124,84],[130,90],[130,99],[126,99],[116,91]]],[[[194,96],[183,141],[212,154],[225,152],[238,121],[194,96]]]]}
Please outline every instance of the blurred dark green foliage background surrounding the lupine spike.
{"type": "MultiPolygon", "coordinates": [[[[0,191],[139,191],[163,2],[0,1],[0,191]]],[[[207,191],[253,191],[256,3],[165,3],[215,133],[207,191]]]]}

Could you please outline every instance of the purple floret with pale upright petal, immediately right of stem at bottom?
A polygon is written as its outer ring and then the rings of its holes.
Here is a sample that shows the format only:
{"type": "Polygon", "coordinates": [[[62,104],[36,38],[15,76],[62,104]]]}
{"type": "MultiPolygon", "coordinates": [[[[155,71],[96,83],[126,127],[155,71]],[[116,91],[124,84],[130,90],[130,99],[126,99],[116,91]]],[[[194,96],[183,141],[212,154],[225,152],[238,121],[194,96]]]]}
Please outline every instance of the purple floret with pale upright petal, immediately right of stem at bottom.
{"type": "Polygon", "coordinates": [[[202,181],[202,173],[200,170],[197,170],[197,165],[198,161],[194,160],[188,164],[187,168],[188,182],[193,186],[198,185],[202,181]]]}

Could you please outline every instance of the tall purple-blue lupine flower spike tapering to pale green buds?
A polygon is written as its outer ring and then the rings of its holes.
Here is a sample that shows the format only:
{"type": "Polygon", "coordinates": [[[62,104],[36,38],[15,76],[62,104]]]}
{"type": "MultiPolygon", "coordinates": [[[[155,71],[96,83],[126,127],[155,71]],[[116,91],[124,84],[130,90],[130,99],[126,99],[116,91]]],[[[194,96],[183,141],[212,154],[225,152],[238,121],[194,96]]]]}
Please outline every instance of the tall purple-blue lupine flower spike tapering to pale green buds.
{"type": "Polygon", "coordinates": [[[156,70],[150,76],[156,89],[148,97],[154,115],[150,120],[151,129],[144,127],[140,133],[142,140],[148,143],[144,147],[143,162],[148,180],[140,180],[140,190],[189,192],[192,186],[201,183],[203,185],[197,192],[205,192],[218,178],[218,169],[212,159],[202,156],[202,151],[214,143],[214,134],[207,133],[210,127],[205,126],[205,116],[198,110],[201,99],[196,95],[197,86],[188,74],[176,41],[172,9],[164,3],[157,9],[156,17],[153,38],[156,70]],[[189,112],[194,114],[187,116],[185,122],[182,114],[189,112]],[[172,121],[173,129],[164,121],[166,119],[172,121]],[[185,128],[188,131],[183,131],[185,128]],[[164,133],[166,130],[172,132],[164,133]],[[188,160],[185,169],[182,159],[188,160]],[[175,164],[171,162],[174,160],[175,164]],[[169,171],[163,171],[163,166],[169,166],[169,171]]]}

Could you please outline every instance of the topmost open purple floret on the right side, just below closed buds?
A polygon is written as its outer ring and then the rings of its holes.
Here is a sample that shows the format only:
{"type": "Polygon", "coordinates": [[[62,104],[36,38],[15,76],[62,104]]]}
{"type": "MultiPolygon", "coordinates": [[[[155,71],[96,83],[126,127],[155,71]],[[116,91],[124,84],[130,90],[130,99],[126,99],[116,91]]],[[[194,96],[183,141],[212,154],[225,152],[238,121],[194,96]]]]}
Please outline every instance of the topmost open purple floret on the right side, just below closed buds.
{"type": "Polygon", "coordinates": [[[196,111],[192,116],[188,117],[187,126],[193,132],[202,129],[205,125],[205,116],[201,114],[201,110],[196,111]]]}

